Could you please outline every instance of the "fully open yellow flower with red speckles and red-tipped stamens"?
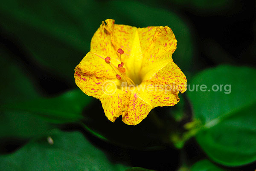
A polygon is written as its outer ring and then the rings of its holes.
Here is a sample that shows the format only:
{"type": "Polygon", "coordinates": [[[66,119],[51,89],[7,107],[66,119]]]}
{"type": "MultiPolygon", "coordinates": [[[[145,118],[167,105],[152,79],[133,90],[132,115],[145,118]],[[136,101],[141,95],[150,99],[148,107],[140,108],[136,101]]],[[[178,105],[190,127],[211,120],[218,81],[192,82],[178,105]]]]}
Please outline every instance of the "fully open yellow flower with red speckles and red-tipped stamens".
{"type": "Polygon", "coordinates": [[[85,94],[102,102],[109,120],[122,115],[124,123],[137,125],[152,108],[177,104],[186,77],[172,60],[177,40],[171,28],[114,22],[102,22],[74,77],[85,94]]]}

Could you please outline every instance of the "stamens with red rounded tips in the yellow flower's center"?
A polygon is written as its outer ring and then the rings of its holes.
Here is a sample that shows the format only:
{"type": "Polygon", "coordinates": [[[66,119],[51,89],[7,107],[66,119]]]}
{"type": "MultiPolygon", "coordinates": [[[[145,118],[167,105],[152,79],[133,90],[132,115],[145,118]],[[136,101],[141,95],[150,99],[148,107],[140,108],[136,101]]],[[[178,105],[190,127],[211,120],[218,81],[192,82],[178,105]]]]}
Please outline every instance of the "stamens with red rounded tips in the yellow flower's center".
{"type": "Polygon", "coordinates": [[[105,58],[105,62],[108,63],[108,64],[111,66],[111,68],[116,72],[116,78],[117,78],[118,80],[122,80],[122,79],[123,79],[125,82],[128,83],[128,85],[135,85],[134,81],[131,80],[131,79],[126,75],[126,73],[125,73],[125,68],[123,67],[125,64],[122,62],[121,55],[124,54],[124,51],[123,51],[121,48],[119,48],[119,49],[117,50],[117,52],[118,52],[117,54],[118,54],[118,56],[119,56],[119,58],[120,58],[120,64],[118,64],[117,67],[114,66],[113,63],[111,63],[111,58],[110,58],[110,57],[106,57],[106,58],[105,58]],[[121,76],[122,76],[122,77],[121,77],[121,76]]]}

